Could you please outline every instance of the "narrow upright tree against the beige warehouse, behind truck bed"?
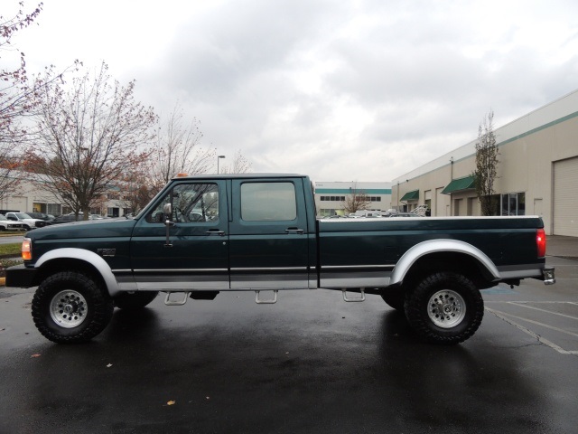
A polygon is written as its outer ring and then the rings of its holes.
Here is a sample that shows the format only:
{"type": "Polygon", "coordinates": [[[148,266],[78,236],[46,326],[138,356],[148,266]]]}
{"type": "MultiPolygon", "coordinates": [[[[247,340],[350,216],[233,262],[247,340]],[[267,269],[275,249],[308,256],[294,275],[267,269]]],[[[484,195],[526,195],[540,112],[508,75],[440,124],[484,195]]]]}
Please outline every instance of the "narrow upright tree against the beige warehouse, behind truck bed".
{"type": "Polygon", "coordinates": [[[478,142],[476,143],[475,188],[481,205],[481,215],[493,215],[496,207],[494,184],[497,178],[499,163],[498,146],[493,126],[494,112],[484,116],[478,127],[478,142]]]}

